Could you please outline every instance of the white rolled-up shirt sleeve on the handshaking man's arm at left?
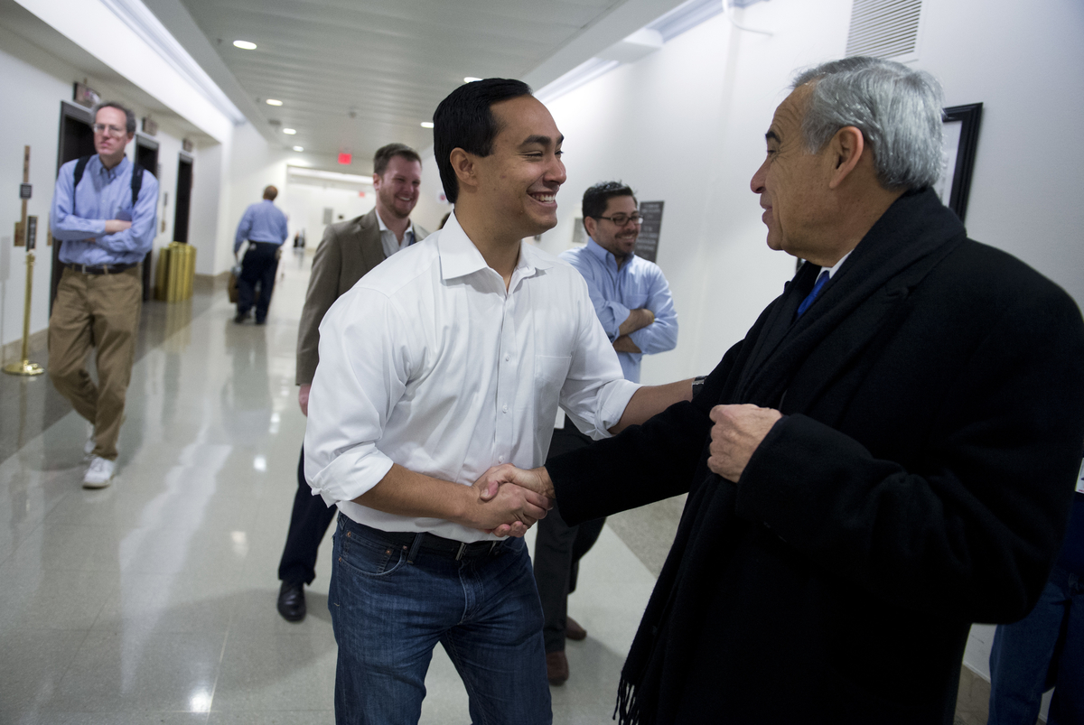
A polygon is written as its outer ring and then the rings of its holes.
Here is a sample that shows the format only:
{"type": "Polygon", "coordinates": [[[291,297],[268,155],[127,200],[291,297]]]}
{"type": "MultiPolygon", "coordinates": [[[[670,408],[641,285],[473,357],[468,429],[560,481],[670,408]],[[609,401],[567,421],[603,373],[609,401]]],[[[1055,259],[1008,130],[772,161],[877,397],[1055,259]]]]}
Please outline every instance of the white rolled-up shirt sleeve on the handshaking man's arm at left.
{"type": "Polygon", "coordinates": [[[340,297],[320,325],[305,474],[328,506],[357,499],[391,469],[376,443],[410,377],[409,327],[387,297],[362,288],[340,297]]]}

